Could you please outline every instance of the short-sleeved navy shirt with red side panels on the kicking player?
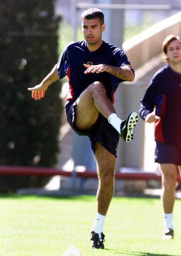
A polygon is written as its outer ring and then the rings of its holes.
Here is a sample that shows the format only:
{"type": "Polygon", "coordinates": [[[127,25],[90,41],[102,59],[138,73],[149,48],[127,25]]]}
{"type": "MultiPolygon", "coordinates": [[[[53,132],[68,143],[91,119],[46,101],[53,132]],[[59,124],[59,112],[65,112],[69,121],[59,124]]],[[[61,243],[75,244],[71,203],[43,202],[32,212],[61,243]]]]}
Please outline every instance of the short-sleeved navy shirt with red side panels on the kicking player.
{"type": "Polygon", "coordinates": [[[69,43],[57,63],[57,73],[60,79],[66,75],[69,79],[67,104],[75,101],[95,81],[100,81],[104,84],[109,99],[114,103],[114,93],[119,83],[124,81],[108,72],[84,74],[87,68],[83,64],[127,65],[127,67],[133,70],[124,51],[114,45],[103,41],[96,51],[91,52],[87,48],[85,40],[69,43]]]}

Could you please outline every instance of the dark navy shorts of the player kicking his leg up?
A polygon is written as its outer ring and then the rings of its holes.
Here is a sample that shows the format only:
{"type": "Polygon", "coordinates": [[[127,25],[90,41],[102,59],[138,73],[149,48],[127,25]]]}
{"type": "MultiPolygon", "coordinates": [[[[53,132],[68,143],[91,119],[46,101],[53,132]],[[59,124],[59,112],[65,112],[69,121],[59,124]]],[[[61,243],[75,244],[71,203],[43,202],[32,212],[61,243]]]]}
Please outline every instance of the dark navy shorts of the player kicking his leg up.
{"type": "MultiPolygon", "coordinates": [[[[74,122],[75,116],[75,102],[67,102],[65,105],[65,113],[67,115],[67,121],[72,129],[80,136],[88,136],[91,141],[91,147],[94,152],[94,142],[100,142],[101,145],[108,150],[111,154],[117,157],[117,145],[119,142],[120,134],[112,125],[109,124],[108,120],[103,117],[100,113],[96,123],[86,133],[82,133],[76,129],[74,122]]],[[[95,153],[95,152],[94,152],[95,153]]]]}

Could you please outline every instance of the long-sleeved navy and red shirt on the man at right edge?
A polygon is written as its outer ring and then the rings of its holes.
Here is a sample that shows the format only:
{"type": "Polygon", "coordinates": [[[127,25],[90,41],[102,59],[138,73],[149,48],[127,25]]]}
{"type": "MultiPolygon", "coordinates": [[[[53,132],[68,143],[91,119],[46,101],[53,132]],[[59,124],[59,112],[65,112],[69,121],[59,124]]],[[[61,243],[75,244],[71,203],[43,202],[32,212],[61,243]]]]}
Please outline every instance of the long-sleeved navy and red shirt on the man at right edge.
{"type": "Polygon", "coordinates": [[[181,143],[181,74],[169,65],[152,77],[141,100],[139,114],[143,120],[153,112],[161,119],[155,122],[155,140],[163,143],[181,143]]]}

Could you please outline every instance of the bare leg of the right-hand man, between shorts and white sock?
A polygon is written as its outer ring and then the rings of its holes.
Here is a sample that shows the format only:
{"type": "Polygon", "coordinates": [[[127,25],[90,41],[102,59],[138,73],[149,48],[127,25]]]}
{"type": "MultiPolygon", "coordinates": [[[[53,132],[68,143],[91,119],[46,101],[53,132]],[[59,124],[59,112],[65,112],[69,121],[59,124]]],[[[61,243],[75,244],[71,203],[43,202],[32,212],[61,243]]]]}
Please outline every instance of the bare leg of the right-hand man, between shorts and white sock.
{"type": "Polygon", "coordinates": [[[175,185],[177,167],[174,164],[161,164],[162,170],[162,195],[164,213],[172,213],[175,202],[175,185]]]}

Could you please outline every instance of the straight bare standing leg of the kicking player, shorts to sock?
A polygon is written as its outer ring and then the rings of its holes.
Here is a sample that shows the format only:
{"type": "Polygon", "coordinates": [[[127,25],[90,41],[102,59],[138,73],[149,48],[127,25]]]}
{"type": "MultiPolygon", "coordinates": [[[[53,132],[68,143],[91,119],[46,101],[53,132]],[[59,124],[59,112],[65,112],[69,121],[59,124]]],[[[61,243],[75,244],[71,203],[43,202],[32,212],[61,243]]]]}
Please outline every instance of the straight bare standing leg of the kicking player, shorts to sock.
{"type": "Polygon", "coordinates": [[[97,172],[99,186],[97,190],[97,211],[106,215],[110,201],[114,193],[114,171],[116,157],[95,142],[95,157],[97,161],[97,172]]]}

